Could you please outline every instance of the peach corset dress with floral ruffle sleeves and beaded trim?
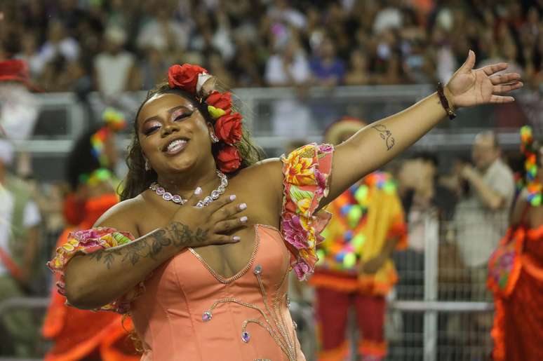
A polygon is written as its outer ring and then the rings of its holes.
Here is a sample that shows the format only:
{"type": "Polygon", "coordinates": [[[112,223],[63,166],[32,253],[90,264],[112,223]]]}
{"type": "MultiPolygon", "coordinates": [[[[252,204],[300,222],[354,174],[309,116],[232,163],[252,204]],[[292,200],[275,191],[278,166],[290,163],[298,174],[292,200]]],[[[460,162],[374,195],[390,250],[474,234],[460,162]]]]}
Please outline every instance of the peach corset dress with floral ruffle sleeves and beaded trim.
{"type": "MultiPolygon", "coordinates": [[[[223,278],[189,248],[156,268],[133,292],[100,308],[130,313],[145,361],[305,360],[288,311],[288,271],[309,275],[328,212],[316,212],[328,191],[333,148],[308,144],[283,156],[281,230],[255,225],[253,254],[223,278]]],[[[77,252],[131,242],[133,236],[98,228],[73,233],[49,267],[63,273],[77,252]]],[[[63,278],[58,284],[63,292],[63,278]]]]}

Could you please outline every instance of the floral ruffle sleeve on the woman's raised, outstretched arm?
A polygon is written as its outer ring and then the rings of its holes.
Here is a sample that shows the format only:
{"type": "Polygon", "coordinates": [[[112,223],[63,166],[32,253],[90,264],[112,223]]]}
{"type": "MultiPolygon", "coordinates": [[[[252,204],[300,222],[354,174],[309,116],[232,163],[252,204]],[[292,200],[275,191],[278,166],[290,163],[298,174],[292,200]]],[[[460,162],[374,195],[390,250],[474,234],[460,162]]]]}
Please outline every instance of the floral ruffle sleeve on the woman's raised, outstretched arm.
{"type": "Polygon", "coordinates": [[[307,144],[283,162],[283,210],[281,231],[290,250],[290,266],[300,280],[313,273],[316,245],[323,241],[320,233],[330,220],[325,210],[315,212],[320,200],[328,195],[328,177],[332,169],[333,147],[330,144],[307,144]]]}

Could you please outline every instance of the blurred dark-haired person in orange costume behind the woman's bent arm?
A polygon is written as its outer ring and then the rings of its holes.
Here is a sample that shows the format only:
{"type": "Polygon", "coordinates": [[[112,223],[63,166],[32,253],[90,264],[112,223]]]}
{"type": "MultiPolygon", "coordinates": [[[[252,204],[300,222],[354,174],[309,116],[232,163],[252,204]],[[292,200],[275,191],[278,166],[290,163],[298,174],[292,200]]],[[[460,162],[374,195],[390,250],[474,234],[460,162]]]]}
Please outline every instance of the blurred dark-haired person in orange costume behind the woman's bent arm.
{"type": "MultiPolygon", "coordinates": [[[[84,132],[68,156],[67,181],[72,193],[65,202],[67,226],[57,247],[66,243],[70,232],[88,229],[109,207],[119,202],[119,182],[113,173],[116,163],[116,132],[126,125],[123,114],[107,109],[104,123],[84,132]]],[[[58,281],[58,277],[56,281],[58,281]]],[[[53,341],[45,361],[102,360],[136,361],[128,332],[133,329],[129,318],[112,312],[95,313],[69,307],[66,297],[56,290],[46,312],[41,334],[53,341]]]]}

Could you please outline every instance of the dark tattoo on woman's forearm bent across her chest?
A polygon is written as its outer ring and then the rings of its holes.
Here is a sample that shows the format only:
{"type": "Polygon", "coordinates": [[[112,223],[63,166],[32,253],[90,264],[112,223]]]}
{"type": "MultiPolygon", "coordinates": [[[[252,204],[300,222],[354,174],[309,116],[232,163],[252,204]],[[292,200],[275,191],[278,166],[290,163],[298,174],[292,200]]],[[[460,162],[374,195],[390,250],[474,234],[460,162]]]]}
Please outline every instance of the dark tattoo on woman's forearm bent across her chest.
{"type": "Polygon", "coordinates": [[[186,224],[174,222],[167,229],[160,229],[145,238],[130,242],[122,248],[107,248],[90,253],[90,259],[101,261],[107,269],[112,267],[116,258],[121,258],[121,262],[128,260],[134,266],[140,259],[155,259],[164,247],[172,244],[181,247],[187,245],[191,240],[202,242],[206,240],[207,236],[207,231],[202,229],[192,231],[186,224]]]}

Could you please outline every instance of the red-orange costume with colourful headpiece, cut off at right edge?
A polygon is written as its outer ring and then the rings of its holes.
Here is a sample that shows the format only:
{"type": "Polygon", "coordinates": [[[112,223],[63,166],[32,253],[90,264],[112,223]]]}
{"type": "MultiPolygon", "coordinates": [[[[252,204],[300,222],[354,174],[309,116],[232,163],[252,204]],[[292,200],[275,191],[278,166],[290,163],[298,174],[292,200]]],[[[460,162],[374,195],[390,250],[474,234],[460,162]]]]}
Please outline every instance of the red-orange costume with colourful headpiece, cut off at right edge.
{"type": "Polygon", "coordinates": [[[495,301],[491,332],[495,361],[543,360],[543,224],[535,229],[525,224],[530,207],[542,204],[539,149],[530,149],[530,128],[523,127],[521,135],[528,206],[520,224],[511,226],[488,263],[488,287],[495,301]]]}

